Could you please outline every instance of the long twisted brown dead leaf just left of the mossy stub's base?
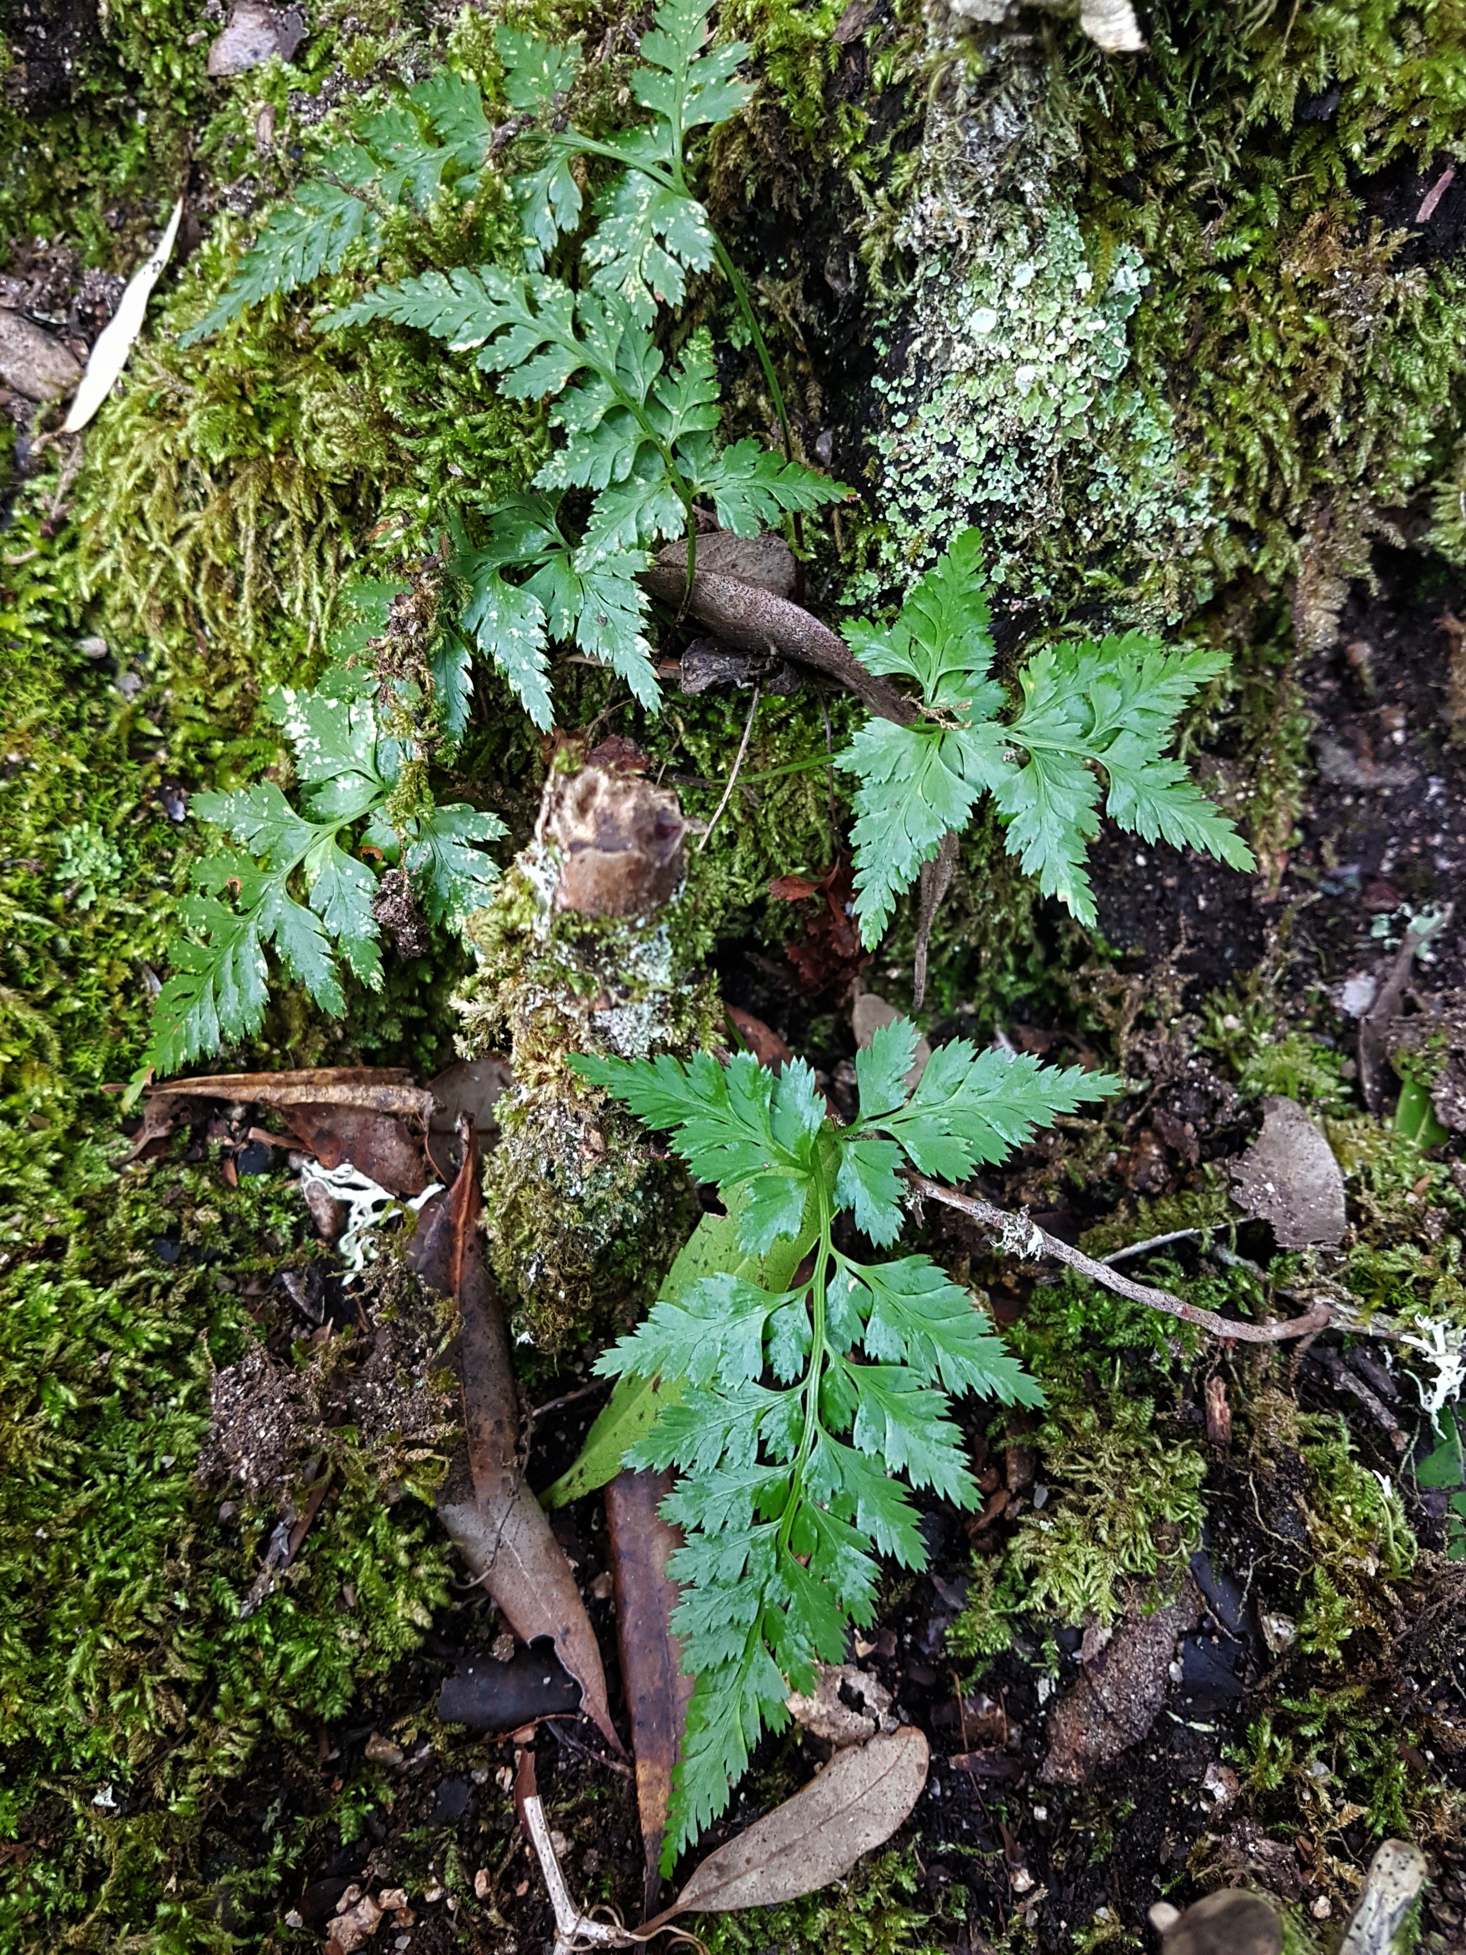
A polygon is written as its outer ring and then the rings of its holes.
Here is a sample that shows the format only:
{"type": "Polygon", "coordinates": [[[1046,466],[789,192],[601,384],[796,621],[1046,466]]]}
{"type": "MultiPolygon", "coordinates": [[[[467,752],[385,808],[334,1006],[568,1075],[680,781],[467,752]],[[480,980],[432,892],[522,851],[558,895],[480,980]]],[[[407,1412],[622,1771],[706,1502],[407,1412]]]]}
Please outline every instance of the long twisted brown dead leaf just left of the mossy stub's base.
{"type": "Polygon", "coordinates": [[[412,1245],[418,1277],[455,1296],[463,1320],[459,1378],[465,1447],[438,1494],[438,1515],[514,1634],[522,1642],[538,1636],[553,1640],[561,1664],[581,1685],[581,1709],[620,1752],[590,1619],[518,1456],[514,1372],[504,1312],[479,1228],[479,1148],[467,1118],[459,1128],[459,1146],[463,1165],[457,1179],[412,1245]]]}

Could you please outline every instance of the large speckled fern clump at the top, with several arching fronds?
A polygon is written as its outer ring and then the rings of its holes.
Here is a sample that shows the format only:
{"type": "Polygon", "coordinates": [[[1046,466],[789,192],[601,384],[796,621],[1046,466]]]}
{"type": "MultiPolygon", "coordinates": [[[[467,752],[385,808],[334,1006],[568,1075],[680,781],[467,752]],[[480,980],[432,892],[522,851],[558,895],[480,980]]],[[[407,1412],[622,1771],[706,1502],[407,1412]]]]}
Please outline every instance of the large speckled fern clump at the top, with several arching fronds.
{"type": "MultiPolygon", "coordinates": [[[[788,450],[784,399],[747,287],[688,184],[688,139],[753,94],[735,80],[749,49],[739,41],[708,49],[706,41],[708,6],[665,0],[629,82],[649,119],[600,141],[563,115],[579,53],[500,27],[504,94],[526,123],[508,137],[524,268],[426,272],[319,321],[328,332],[377,319],[416,326],[455,352],[473,350],[510,399],[555,403],[549,426],[559,442],[532,491],[495,508],[487,536],[477,547],[463,538],[455,559],[467,590],[465,633],[545,731],[553,641],[610,667],[643,706],[659,704],[637,575],[653,543],[680,534],[692,575],[698,499],[711,500],[725,528],[753,536],[848,493],[756,440],[723,448],[711,342],[696,336],[674,368],[655,344],[659,305],[680,305],[688,274],[717,266],[751,328],[788,450]],[[579,264],[577,158],[616,166],[594,201],[579,264]],[[565,276],[545,270],[551,256],[565,260],[565,276]]],[[[440,76],[409,90],[405,104],[367,117],[358,141],[326,156],[324,180],[305,184],[270,217],[225,297],[186,338],[215,330],[270,291],[340,270],[358,246],[360,256],[379,254],[385,213],[405,201],[426,209],[446,186],[475,188],[493,135],[473,84],[440,76]]]]}

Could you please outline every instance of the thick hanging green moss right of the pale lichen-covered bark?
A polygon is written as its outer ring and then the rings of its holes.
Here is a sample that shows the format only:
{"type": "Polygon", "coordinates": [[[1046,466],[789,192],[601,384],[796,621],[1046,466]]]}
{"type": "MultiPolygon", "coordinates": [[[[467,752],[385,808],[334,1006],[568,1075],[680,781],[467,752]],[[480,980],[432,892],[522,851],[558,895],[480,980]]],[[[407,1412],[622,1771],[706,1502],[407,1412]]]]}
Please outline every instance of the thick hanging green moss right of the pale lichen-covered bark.
{"type": "Polygon", "coordinates": [[[1466,14],[1360,0],[1239,31],[1163,0],[1147,39],[1134,70],[1065,49],[1081,217],[1145,254],[1136,366],[1206,457],[1220,569],[1302,571],[1317,594],[1366,569],[1378,512],[1448,448],[1456,272],[1401,260],[1358,184],[1401,152],[1462,154],[1466,14]]]}

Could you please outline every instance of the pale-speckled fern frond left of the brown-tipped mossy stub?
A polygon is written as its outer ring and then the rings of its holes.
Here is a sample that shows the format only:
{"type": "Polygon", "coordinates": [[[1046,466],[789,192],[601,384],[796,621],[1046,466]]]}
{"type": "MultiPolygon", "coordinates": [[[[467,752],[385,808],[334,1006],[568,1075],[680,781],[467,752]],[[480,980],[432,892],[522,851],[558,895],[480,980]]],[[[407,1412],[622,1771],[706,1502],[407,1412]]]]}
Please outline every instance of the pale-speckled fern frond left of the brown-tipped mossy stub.
{"type": "Polygon", "coordinates": [[[313,692],[281,688],[268,702],[295,759],[299,811],[274,782],[192,798],[195,819],[227,841],[195,864],[194,891],[178,907],[194,934],[172,944],[137,1087],[258,1032],[266,948],[332,1017],[346,1011],[340,966],[381,989],[377,876],[364,852],[407,870],[430,923],[457,927],[487,899],[498,866],[477,845],[508,833],[502,821],[461,802],[436,807],[407,778],[416,743],[403,733],[412,717],[428,714],[440,739],[461,731],[461,647],[446,635],[428,665],[432,696],[418,680],[393,682],[385,714],[360,657],[405,588],[360,585],[326,680],[313,692]],[[403,788],[409,805],[399,807],[403,788]]]}

